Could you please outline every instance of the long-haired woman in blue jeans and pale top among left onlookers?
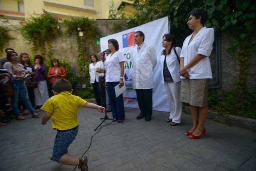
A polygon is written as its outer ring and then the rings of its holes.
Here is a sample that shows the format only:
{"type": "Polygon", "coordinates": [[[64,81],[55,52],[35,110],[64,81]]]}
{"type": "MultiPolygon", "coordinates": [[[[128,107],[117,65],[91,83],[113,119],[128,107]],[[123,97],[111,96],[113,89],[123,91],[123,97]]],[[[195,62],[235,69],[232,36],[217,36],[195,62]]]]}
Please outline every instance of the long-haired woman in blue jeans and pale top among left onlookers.
{"type": "MultiPolygon", "coordinates": [[[[7,53],[7,59],[10,62],[6,62],[4,64],[4,68],[8,70],[9,73],[12,74],[12,89],[14,91],[14,95],[12,96],[12,109],[14,110],[14,113],[16,115],[17,120],[24,120],[25,117],[22,117],[20,115],[20,110],[18,108],[18,100],[19,97],[24,101],[27,109],[32,114],[32,117],[37,117],[39,114],[35,112],[29,98],[28,98],[28,90],[26,88],[25,82],[24,82],[24,66],[22,64],[18,63],[19,57],[16,52],[8,52],[7,53]]],[[[6,77],[6,81],[9,78],[6,77]]]]}

